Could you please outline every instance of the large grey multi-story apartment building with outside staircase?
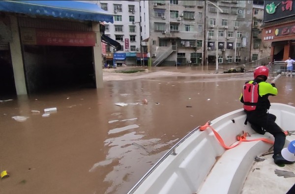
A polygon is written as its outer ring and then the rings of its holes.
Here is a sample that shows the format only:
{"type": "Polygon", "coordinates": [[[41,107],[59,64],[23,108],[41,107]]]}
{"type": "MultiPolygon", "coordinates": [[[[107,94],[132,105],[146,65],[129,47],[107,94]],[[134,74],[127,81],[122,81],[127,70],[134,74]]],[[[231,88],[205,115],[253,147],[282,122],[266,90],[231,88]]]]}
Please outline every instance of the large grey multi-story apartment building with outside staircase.
{"type": "Polygon", "coordinates": [[[250,59],[253,1],[151,0],[153,65],[244,64],[250,59]]]}

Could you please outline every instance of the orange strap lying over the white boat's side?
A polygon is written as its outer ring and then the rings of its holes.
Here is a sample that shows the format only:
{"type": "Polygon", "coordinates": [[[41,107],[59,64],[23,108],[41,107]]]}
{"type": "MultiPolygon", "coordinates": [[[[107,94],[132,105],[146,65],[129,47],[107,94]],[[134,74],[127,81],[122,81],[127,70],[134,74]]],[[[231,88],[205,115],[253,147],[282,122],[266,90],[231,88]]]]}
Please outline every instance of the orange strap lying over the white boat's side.
{"type": "Polygon", "coordinates": [[[266,143],[273,144],[273,141],[270,141],[270,140],[268,140],[268,139],[266,139],[266,138],[258,138],[258,139],[253,139],[253,140],[247,140],[246,137],[247,137],[247,136],[250,136],[250,135],[249,135],[249,133],[247,133],[247,132],[245,132],[245,133],[243,132],[242,135],[237,135],[237,136],[236,136],[236,139],[238,140],[238,143],[237,143],[237,144],[235,144],[235,145],[231,145],[231,146],[227,146],[227,145],[225,145],[223,139],[222,139],[221,136],[217,133],[217,131],[215,131],[215,130],[213,129],[213,127],[210,126],[209,121],[208,121],[205,125],[203,125],[203,126],[200,127],[200,131],[205,131],[208,127],[213,131],[213,133],[214,133],[215,137],[217,138],[217,140],[219,141],[219,143],[220,143],[224,148],[226,148],[226,149],[231,149],[231,148],[233,148],[233,147],[236,147],[236,145],[239,145],[239,144],[242,143],[242,142],[264,141],[264,142],[266,142],[266,143]]]}

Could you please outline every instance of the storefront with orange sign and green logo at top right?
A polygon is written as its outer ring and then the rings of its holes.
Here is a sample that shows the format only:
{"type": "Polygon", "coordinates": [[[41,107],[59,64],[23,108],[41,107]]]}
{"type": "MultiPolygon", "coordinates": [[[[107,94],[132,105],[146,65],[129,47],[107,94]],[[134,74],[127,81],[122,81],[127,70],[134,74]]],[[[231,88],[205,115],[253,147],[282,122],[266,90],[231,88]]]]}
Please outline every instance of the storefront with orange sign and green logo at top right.
{"type": "Polygon", "coordinates": [[[264,45],[271,47],[272,60],[295,59],[295,3],[292,0],[265,0],[264,45]]]}

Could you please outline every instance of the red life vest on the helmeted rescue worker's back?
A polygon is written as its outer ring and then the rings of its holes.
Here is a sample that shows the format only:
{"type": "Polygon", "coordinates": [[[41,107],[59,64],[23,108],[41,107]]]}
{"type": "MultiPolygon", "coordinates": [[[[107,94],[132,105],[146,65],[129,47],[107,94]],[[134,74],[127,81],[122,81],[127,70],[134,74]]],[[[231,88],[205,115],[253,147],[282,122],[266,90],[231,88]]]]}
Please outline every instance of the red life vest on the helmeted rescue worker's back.
{"type": "Polygon", "coordinates": [[[243,87],[244,109],[253,111],[256,109],[259,97],[259,84],[256,82],[246,83],[243,87]]]}

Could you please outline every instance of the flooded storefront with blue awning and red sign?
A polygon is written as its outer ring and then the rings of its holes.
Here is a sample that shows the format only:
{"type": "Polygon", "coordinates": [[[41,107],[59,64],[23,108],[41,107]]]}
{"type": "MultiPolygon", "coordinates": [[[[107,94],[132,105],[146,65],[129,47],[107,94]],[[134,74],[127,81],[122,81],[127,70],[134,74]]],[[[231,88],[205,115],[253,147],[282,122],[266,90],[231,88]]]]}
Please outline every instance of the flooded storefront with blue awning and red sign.
{"type": "Polygon", "coordinates": [[[5,42],[16,95],[86,84],[103,87],[99,22],[113,23],[112,14],[71,0],[0,1],[0,13],[6,20],[0,24],[11,36],[5,42]]]}

